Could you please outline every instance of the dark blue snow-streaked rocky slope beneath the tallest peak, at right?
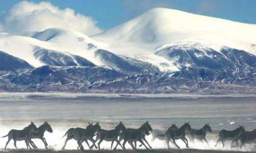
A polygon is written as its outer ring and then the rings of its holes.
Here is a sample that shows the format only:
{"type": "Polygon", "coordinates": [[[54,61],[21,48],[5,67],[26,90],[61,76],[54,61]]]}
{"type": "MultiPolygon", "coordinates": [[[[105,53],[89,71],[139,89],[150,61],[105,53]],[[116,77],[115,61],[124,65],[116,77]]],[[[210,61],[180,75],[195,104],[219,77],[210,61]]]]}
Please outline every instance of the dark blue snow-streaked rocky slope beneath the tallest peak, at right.
{"type": "Polygon", "coordinates": [[[173,77],[224,82],[249,79],[248,83],[256,79],[256,56],[244,50],[223,47],[218,52],[201,44],[177,44],[162,48],[156,55],[180,68],[173,77]]]}

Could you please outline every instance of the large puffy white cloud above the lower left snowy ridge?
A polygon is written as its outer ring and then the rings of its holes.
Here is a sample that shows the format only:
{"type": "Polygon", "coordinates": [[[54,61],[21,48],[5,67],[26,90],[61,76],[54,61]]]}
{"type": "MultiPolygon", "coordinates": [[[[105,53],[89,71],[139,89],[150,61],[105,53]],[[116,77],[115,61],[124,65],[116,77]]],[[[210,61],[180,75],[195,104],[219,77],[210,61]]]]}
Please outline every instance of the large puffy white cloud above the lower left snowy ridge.
{"type": "MultiPolygon", "coordinates": [[[[75,13],[73,9],[59,9],[49,2],[22,1],[2,16],[5,32],[43,31],[48,28],[65,28],[87,35],[101,32],[91,17],[75,13]]],[[[1,25],[1,24],[0,24],[1,25]]],[[[1,28],[1,26],[0,26],[1,28]]]]}

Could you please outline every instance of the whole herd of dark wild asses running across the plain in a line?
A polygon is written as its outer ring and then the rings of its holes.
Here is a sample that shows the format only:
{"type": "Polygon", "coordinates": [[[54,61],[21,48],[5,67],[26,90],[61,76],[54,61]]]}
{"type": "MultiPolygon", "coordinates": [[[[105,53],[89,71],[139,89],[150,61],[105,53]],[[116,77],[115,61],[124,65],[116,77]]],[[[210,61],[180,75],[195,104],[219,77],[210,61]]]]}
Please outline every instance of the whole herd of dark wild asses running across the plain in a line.
{"type": "MultiPolygon", "coordinates": [[[[44,132],[53,132],[51,125],[47,121],[44,121],[42,125],[36,127],[33,122],[30,123],[27,127],[24,127],[23,130],[11,130],[6,136],[8,140],[5,145],[5,149],[9,144],[10,140],[14,141],[14,146],[16,149],[16,142],[24,140],[26,142],[26,146],[28,149],[37,148],[32,139],[40,139],[44,143],[45,148],[47,149],[47,142],[44,138],[44,132]],[[30,146],[31,145],[31,146],[30,146]]],[[[100,123],[97,122],[95,124],[89,123],[88,126],[84,128],[76,127],[70,128],[65,133],[67,136],[64,146],[62,149],[65,149],[68,140],[74,139],[77,141],[78,147],[77,149],[84,150],[84,146],[82,145],[83,142],[86,142],[90,149],[98,148],[100,149],[100,144],[102,141],[111,142],[111,149],[113,148],[114,142],[116,143],[114,150],[117,149],[117,146],[120,146],[125,150],[125,144],[128,142],[129,145],[133,149],[137,148],[137,142],[140,142],[140,146],[144,146],[146,149],[152,148],[148,141],[146,140],[146,136],[152,134],[152,141],[155,139],[164,140],[166,141],[168,148],[170,148],[170,142],[180,148],[176,140],[182,140],[187,148],[189,148],[189,141],[193,142],[194,140],[200,140],[202,143],[207,143],[205,138],[207,132],[212,132],[212,129],[209,124],[203,125],[201,129],[194,130],[191,128],[189,123],[184,123],[181,127],[177,127],[175,124],[172,124],[166,131],[161,130],[152,130],[150,123],[146,121],[143,123],[141,127],[137,129],[126,128],[123,125],[123,122],[120,123],[115,127],[113,130],[104,130],[100,127],[100,123]],[[187,138],[186,138],[187,136],[187,138]],[[88,140],[92,142],[92,146],[90,146],[88,140]],[[121,143],[122,142],[122,143],[121,143]],[[96,144],[97,143],[97,144],[96,144]]],[[[243,126],[239,126],[236,130],[221,130],[218,135],[218,140],[216,142],[216,146],[222,143],[224,147],[225,142],[227,140],[231,141],[231,147],[240,146],[242,148],[245,144],[256,143],[256,130],[246,132],[243,126]],[[240,144],[239,144],[240,143],[240,144]]],[[[209,144],[208,144],[209,145],[209,144]]]]}

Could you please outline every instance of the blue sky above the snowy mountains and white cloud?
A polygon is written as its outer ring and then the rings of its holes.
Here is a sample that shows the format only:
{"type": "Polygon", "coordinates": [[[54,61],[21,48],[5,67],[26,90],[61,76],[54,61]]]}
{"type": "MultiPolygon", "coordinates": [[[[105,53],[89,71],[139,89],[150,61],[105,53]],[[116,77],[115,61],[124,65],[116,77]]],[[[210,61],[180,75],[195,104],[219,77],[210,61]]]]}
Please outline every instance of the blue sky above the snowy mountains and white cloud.
{"type": "MultiPolygon", "coordinates": [[[[0,12],[11,9],[18,0],[0,0],[0,12]]],[[[33,0],[33,2],[39,2],[33,0]]],[[[102,29],[124,21],[154,7],[167,7],[191,13],[256,23],[256,0],[51,0],[53,5],[69,7],[93,17],[102,29]]]]}

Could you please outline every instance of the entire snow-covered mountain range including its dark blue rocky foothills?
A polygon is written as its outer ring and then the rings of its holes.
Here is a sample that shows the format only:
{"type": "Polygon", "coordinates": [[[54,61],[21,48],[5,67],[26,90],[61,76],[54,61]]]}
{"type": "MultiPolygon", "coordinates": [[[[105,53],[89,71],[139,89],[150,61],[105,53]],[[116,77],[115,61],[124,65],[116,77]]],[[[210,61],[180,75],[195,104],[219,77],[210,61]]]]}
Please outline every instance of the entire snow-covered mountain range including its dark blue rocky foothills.
{"type": "Polygon", "coordinates": [[[170,93],[256,85],[256,25],[174,9],[151,9],[95,36],[49,28],[0,33],[0,44],[6,91],[170,93]]]}

